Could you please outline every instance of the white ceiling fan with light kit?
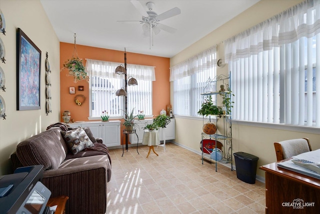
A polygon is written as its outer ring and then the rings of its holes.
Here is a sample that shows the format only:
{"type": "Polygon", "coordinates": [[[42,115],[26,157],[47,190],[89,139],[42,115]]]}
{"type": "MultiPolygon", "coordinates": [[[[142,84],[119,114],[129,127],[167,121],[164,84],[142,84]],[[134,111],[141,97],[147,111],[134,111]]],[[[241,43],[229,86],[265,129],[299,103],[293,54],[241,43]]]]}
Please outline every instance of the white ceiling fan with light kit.
{"type": "Polygon", "coordinates": [[[148,2],[145,4],[148,11],[145,11],[143,5],[137,0],[130,1],[132,5],[139,11],[142,15],[142,21],[120,21],[120,22],[140,22],[142,24],[143,36],[150,37],[152,33],[157,35],[161,30],[173,34],[176,29],[159,23],[162,20],[171,18],[173,16],[179,15],[181,13],[180,9],[175,7],[168,10],[160,15],[157,15],[154,11],[154,3],[148,2]]]}

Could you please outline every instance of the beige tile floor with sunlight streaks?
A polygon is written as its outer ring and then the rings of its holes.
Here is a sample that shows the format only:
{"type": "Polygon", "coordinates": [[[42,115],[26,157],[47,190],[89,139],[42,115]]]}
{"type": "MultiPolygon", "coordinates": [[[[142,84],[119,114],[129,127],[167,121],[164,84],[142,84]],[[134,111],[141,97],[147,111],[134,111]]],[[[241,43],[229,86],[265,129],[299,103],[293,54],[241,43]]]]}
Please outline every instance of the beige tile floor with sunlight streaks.
{"type": "Polygon", "coordinates": [[[264,183],[245,183],[236,172],[201,156],[166,144],[150,153],[148,146],[110,149],[112,176],[107,184],[107,212],[114,213],[264,213],[264,183]]]}

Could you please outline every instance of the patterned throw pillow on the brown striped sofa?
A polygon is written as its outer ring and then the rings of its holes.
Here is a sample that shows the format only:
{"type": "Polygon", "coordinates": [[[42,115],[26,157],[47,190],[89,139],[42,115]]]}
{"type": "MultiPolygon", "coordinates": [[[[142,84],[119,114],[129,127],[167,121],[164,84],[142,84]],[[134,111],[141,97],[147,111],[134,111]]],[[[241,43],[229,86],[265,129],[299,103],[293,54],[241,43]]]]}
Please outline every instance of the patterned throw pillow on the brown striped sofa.
{"type": "Polygon", "coordinates": [[[76,154],[87,147],[94,146],[82,128],[61,131],[61,135],[73,154],[76,154]]]}

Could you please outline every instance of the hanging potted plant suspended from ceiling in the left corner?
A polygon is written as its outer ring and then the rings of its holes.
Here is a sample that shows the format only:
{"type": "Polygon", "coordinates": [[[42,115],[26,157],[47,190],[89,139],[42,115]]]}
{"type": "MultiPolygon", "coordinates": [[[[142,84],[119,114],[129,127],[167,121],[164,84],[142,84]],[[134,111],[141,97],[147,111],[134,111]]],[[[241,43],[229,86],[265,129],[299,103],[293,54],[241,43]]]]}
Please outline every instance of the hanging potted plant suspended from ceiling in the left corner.
{"type": "Polygon", "coordinates": [[[62,65],[63,68],[61,69],[67,69],[69,73],[67,76],[74,76],[74,82],[76,83],[77,81],[80,80],[89,80],[88,73],[85,71],[85,67],[83,66],[82,59],[80,59],[77,55],[76,47],[75,47],[75,34],[74,34],[74,49],[73,49],[73,54],[72,58],[70,60],[65,61],[62,65]]]}

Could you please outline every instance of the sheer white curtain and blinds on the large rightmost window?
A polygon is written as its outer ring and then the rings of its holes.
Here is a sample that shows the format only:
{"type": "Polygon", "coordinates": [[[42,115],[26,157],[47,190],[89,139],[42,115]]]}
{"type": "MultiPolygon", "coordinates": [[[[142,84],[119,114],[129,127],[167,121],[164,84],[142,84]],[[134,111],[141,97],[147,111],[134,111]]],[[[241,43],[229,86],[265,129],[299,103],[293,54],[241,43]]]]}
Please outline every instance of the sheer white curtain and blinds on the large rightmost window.
{"type": "Polygon", "coordinates": [[[233,119],[320,127],[319,33],[310,0],[226,40],[233,119]]]}

